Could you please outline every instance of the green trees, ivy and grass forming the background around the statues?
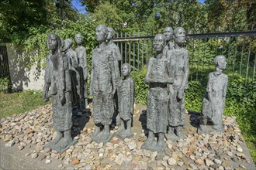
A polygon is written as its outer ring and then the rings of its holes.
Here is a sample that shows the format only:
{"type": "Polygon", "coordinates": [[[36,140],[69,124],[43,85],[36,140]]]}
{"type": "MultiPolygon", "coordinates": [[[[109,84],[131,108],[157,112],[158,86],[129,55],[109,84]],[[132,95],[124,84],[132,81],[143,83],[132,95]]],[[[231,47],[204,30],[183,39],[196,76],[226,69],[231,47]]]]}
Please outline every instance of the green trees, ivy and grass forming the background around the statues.
{"type": "MultiPolygon", "coordinates": [[[[88,13],[85,15],[79,14],[71,5],[71,1],[66,0],[2,0],[0,42],[12,42],[24,46],[23,59],[30,59],[30,65],[37,63],[44,66],[48,53],[46,46],[48,33],[55,32],[61,36],[61,39],[74,40],[74,35],[81,32],[85,38],[84,46],[88,52],[90,67],[92,49],[96,46],[95,26],[98,24],[111,26],[116,32],[143,31],[149,35],[161,32],[165,26],[173,28],[183,26],[188,33],[255,31],[256,2],[253,0],[206,0],[204,4],[197,0],[81,0],[81,3],[86,5],[88,13]],[[60,2],[62,9],[59,8],[60,2]]],[[[216,49],[220,45],[229,46],[223,50],[230,51],[223,53],[230,53],[230,61],[237,63],[240,62],[243,46],[244,49],[249,48],[248,44],[243,44],[240,39],[199,39],[198,41],[195,43],[189,41],[188,49],[193,49],[195,54],[191,56],[195,57],[193,58],[195,60],[191,59],[192,63],[202,62],[202,66],[203,63],[211,64],[212,56],[216,54],[216,49]],[[205,45],[203,48],[206,48],[209,56],[205,57],[201,51],[197,51],[199,44],[205,45]]],[[[251,60],[248,61],[245,57],[243,62],[248,62],[249,66],[253,67],[256,53],[255,37],[251,44],[251,60]]],[[[247,55],[245,51],[244,56],[247,55]]],[[[147,59],[149,57],[147,56],[147,59]]],[[[139,66],[144,67],[144,63],[139,63],[139,66]]],[[[190,81],[186,93],[186,108],[196,112],[201,110],[207,80],[207,74],[202,70],[202,66],[199,67],[199,80],[190,81]]],[[[197,70],[191,69],[191,75],[195,71],[197,70]]],[[[252,73],[253,70],[249,72],[252,73]]],[[[144,83],[144,71],[132,75],[136,83],[136,102],[146,104],[147,85],[144,83]]],[[[256,162],[255,81],[244,80],[243,74],[241,75],[241,77],[235,76],[229,83],[224,114],[237,117],[237,123],[256,162]]],[[[10,88],[8,80],[1,79],[0,83],[1,88],[10,88]]],[[[21,113],[41,104],[41,92],[28,91],[10,95],[12,95],[12,103],[6,103],[11,99],[8,98],[8,94],[1,93],[0,109],[8,108],[0,110],[1,113],[12,109],[9,113],[5,112],[7,114],[0,114],[1,117],[16,113],[17,111],[14,111],[16,105],[19,108],[18,112],[21,113]],[[32,104],[30,107],[32,100],[35,101],[35,105],[32,104]]]]}

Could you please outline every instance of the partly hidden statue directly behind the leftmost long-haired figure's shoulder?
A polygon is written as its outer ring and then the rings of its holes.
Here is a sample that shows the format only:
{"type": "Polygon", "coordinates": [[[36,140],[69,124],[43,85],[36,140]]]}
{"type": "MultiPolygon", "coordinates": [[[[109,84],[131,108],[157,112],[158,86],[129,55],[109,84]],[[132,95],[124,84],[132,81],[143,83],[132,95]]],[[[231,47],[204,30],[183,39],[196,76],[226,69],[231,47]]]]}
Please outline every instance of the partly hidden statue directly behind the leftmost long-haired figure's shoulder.
{"type": "Polygon", "coordinates": [[[76,104],[78,111],[81,111],[80,75],[77,71],[78,56],[71,48],[72,43],[72,39],[65,39],[63,52],[67,56],[68,69],[71,75],[72,108],[74,109],[74,104],[76,104]]]}

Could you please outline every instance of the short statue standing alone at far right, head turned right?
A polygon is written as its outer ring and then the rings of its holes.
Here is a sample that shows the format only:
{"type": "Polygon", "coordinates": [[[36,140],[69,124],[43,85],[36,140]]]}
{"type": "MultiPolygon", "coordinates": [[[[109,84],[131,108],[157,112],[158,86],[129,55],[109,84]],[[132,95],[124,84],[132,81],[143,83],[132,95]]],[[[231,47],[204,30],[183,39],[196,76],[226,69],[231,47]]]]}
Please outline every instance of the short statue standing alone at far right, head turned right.
{"type": "Polygon", "coordinates": [[[210,131],[223,132],[222,115],[225,107],[228,76],[223,73],[226,69],[227,61],[225,56],[216,56],[214,59],[216,71],[209,73],[206,88],[206,95],[202,100],[202,119],[199,131],[209,133],[210,131]],[[213,129],[206,126],[207,122],[213,123],[213,129]]]}

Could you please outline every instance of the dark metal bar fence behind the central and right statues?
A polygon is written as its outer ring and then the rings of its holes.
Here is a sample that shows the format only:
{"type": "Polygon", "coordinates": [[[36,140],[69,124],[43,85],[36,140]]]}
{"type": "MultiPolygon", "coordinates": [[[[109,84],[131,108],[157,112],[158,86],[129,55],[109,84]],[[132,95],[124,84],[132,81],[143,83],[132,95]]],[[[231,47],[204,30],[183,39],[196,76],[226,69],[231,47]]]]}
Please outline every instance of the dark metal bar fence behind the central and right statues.
{"type": "MultiPolygon", "coordinates": [[[[130,63],[133,74],[145,72],[147,61],[154,55],[152,40],[147,32],[125,32],[116,34],[114,42],[123,55],[123,63],[130,63]]],[[[205,79],[214,70],[213,59],[223,54],[227,58],[227,73],[230,80],[243,76],[255,80],[256,32],[221,32],[189,34],[185,48],[189,49],[189,80],[205,79]]]]}

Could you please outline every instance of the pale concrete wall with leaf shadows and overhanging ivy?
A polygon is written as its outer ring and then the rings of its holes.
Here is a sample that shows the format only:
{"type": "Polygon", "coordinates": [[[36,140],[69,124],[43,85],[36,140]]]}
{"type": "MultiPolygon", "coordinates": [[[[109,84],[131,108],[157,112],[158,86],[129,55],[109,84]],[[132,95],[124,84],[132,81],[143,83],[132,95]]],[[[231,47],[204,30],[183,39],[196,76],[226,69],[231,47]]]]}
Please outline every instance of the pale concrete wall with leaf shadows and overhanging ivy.
{"type": "Polygon", "coordinates": [[[16,50],[7,43],[9,71],[12,81],[12,90],[43,90],[44,70],[40,66],[27,69],[28,61],[20,62],[22,49],[16,50]]]}

